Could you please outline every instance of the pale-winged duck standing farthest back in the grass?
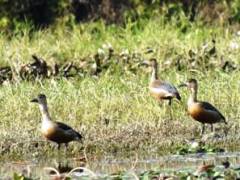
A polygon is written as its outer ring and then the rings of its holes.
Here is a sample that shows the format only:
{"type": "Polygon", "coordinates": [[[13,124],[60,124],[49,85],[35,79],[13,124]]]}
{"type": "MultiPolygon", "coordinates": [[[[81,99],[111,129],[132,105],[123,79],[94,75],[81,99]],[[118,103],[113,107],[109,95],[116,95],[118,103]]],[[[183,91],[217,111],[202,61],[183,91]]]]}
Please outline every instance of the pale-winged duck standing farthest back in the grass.
{"type": "Polygon", "coordinates": [[[171,105],[173,98],[177,98],[180,101],[181,97],[177,88],[172,84],[162,81],[158,78],[157,60],[152,58],[147,64],[152,67],[152,75],[149,83],[150,94],[159,102],[162,100],[168,100],[169,105],[171,105]]]}

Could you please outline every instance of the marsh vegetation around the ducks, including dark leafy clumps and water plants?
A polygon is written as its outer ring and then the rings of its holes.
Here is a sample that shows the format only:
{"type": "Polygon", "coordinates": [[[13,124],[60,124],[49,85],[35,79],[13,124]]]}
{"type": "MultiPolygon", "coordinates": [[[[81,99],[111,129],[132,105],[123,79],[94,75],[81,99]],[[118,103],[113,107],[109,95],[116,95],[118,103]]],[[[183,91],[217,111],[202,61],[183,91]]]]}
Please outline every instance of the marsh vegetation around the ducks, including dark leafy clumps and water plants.
{"type": "MultiPolygon", "coordinates": [[[[170,12],[171,6],[166,8],[170,12]]],[[[240,33],[236,17],[233,24],[190,21],[180,10],[175,9],[171,18],[157,11],[150,16],[147,11],[148,16],[126,19],[124,24],[99,19],[34,29],[20,23],[19,29],[1,32],[2,164],[38,164],[65,157],[80,159],[82,163],[74,167],[89,167],[108,156],[134,163],[132,157],[238,152],[240,33]],[[174,85],[197,79],[199,99],[218,107],[228,125],[217,124],[214,134],[209,128],[201,137],[200,124],[186,113],[189,92],[185,89],[179,90],[182,102],[159,106],[148,91],[150,69],[142,64],[150,58],[159,63],[159,77],[174,85]],[[52,118],[81,132],[83,144],[72,142],[67,151],[57,151],[54,143],[42,137],[38,108],[30,103],[39,93],[47,95],[52,118]],[[186,144],[193,138],[204,145],[194,149],[186,144]]],[[[161,174],[161,167],[154,165],[144,172],[133,168],[132,176],[154,179],[161,174]]],[[[220,161],[214,164],[209,176],[220,165],[220,161]]],[[[231,161],[230,169],[220,169],[239,176],[237,165],[238,161],[231,161]]],[[[118,170],[120,179],[128,172],[118,170]]],[[[15,176],[21,179],[19,173],[15,176]]]]}

